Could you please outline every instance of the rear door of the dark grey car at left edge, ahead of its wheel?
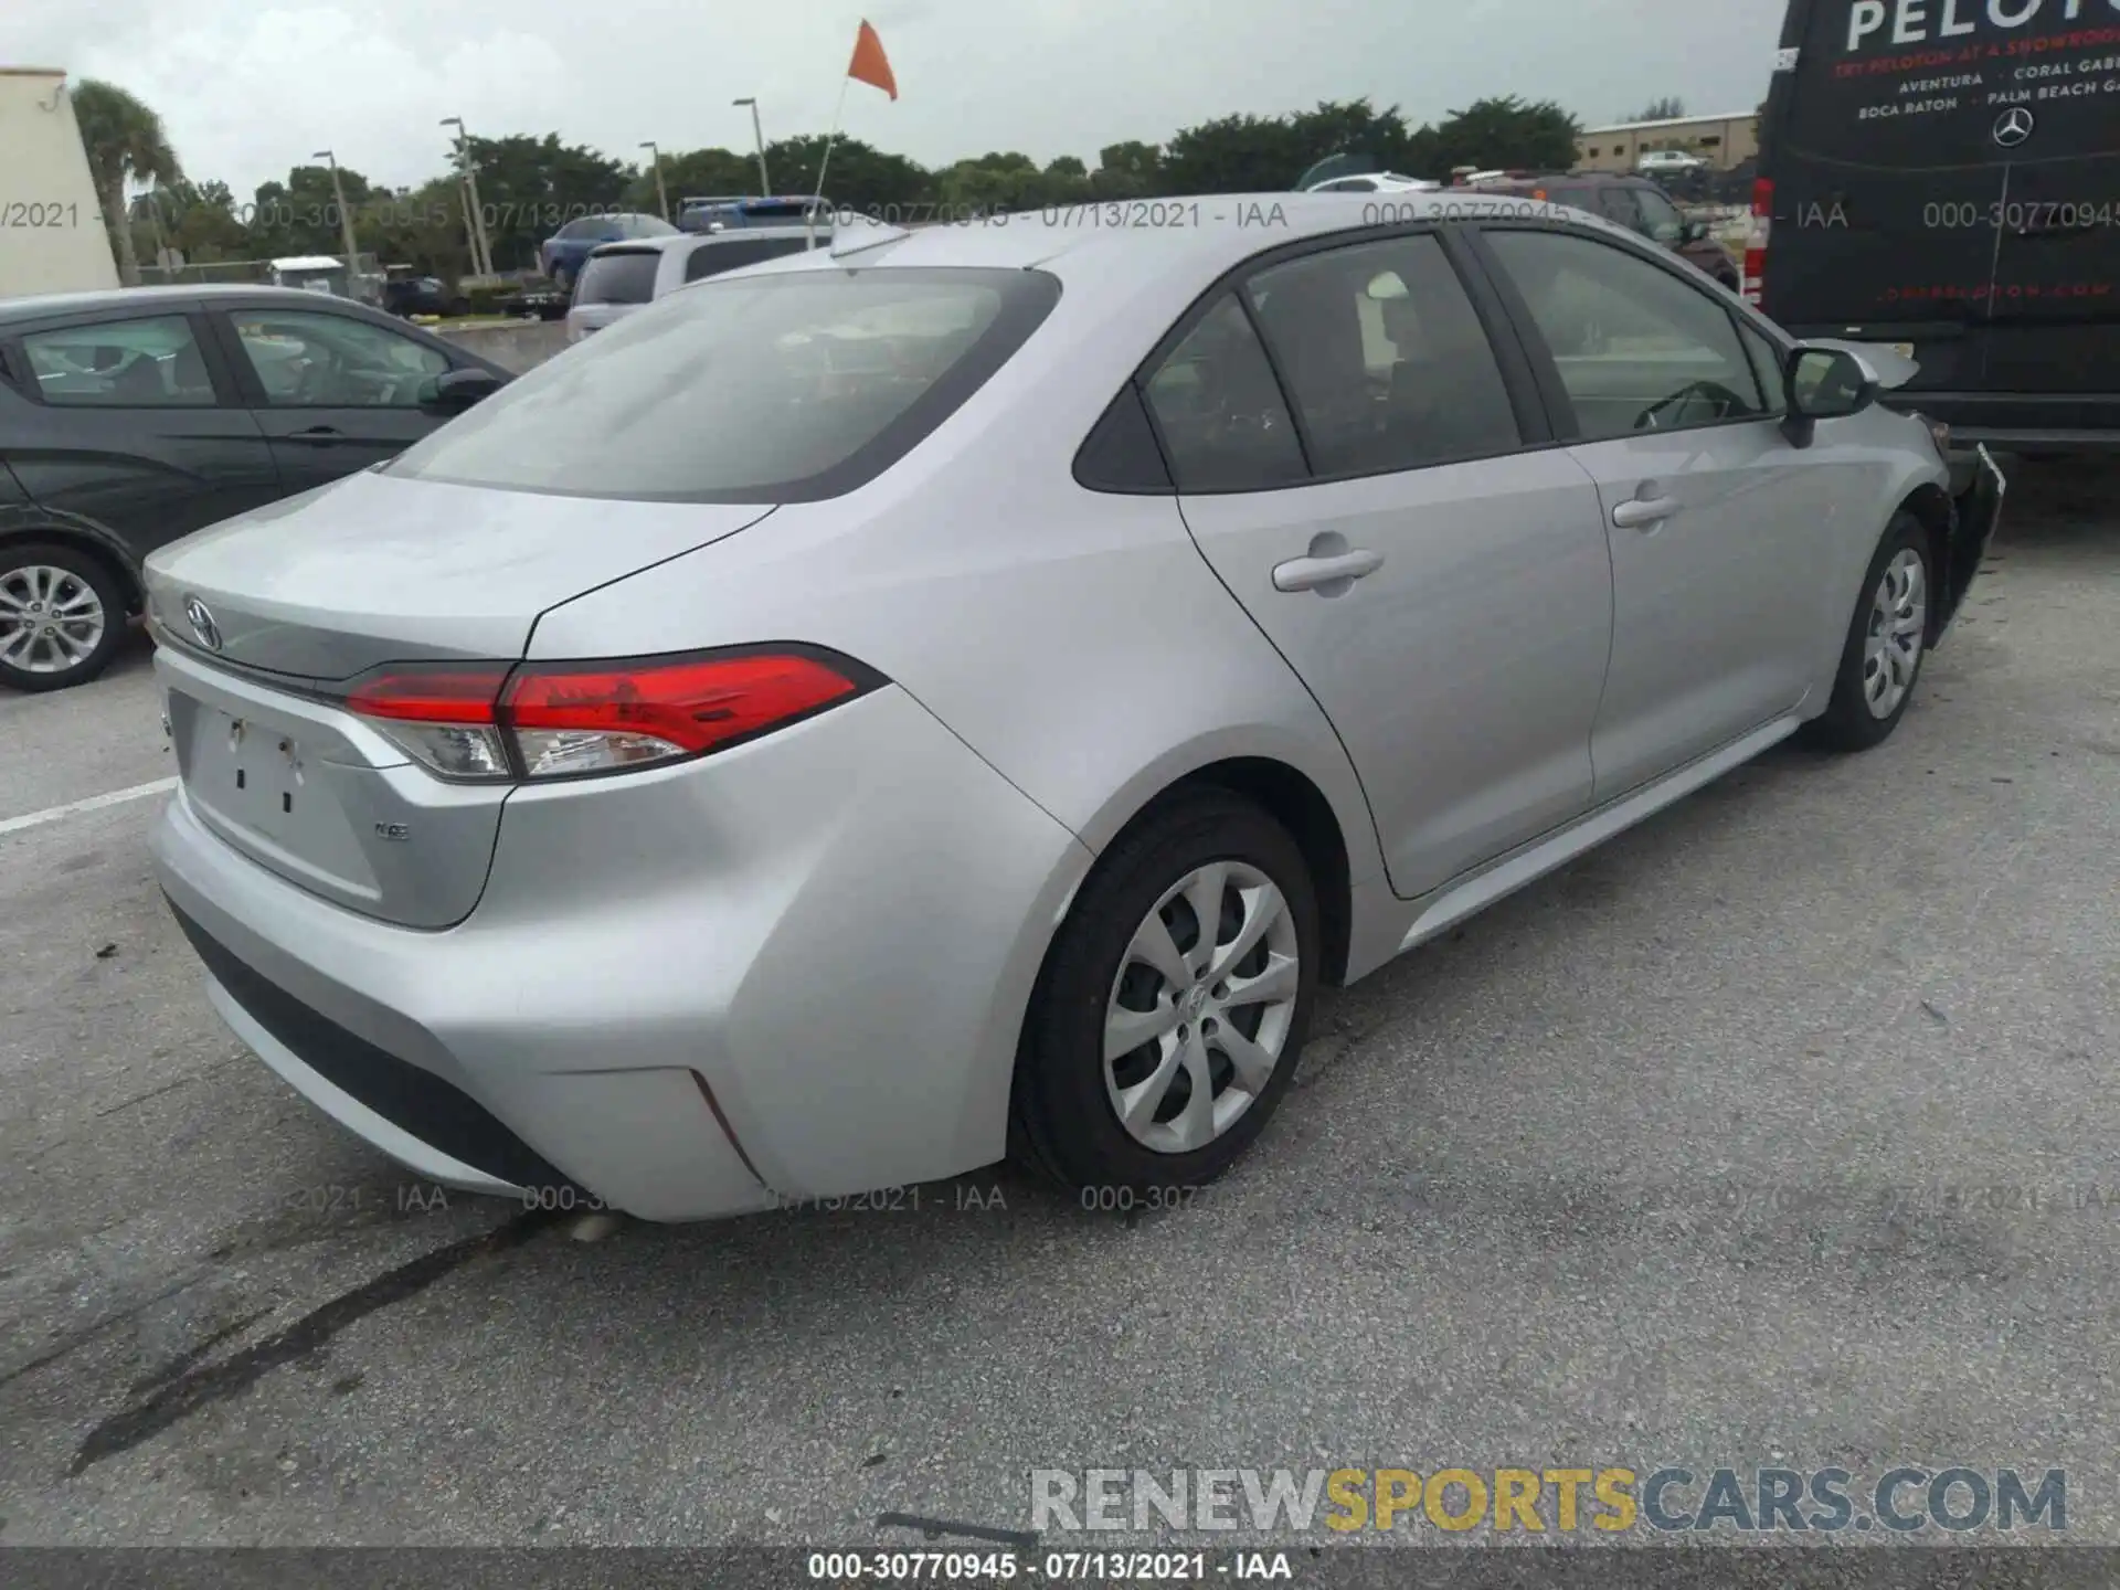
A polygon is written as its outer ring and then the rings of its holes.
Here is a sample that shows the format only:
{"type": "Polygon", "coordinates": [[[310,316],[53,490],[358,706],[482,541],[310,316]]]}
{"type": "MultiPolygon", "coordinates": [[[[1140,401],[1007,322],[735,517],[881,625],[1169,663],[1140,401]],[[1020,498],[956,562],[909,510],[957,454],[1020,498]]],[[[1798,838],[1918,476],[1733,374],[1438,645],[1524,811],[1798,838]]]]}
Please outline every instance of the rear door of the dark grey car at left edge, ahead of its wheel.
{"type": "Polygon", "coordinates": [[[6,369],[0,458],[40,507],[110,530],[134,558],[284,490],[204,314],[40,322],[6,369]]]}

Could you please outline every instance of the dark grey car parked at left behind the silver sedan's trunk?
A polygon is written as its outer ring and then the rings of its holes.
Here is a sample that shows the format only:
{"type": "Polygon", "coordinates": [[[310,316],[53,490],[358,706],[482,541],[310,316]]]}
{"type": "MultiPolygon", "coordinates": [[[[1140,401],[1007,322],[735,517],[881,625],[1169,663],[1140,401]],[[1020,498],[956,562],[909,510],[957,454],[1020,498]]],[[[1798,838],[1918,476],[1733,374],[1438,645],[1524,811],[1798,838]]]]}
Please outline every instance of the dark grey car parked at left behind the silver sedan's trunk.
{"type": "Polygon", "coordinates": [[[0,685],[93,678],[155,547],[382,462],[507,379],[322,293],[0,301],[0,685]]]}

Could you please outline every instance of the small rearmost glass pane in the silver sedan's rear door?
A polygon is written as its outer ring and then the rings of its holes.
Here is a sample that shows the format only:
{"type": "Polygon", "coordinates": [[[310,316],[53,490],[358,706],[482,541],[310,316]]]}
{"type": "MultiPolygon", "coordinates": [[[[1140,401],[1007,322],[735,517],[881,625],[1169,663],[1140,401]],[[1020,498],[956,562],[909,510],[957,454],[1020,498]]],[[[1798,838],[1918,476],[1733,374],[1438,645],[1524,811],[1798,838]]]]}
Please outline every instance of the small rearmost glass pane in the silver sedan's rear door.
{"type": "Polygon", "coordinates": [[[1181,492],[1266,492],[1310,479],[1274,367],[1234,293],[1155,367],[1147,396],[1181,492]]]}

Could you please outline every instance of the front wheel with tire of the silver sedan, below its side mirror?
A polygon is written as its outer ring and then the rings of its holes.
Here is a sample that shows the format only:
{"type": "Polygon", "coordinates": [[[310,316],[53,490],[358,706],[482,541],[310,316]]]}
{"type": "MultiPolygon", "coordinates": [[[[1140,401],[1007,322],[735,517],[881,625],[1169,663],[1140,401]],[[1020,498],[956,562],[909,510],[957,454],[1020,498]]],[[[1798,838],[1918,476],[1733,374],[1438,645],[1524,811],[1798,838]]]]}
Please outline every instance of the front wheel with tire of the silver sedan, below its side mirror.
{"type": "Polygon", "coordinates": [[[1914,700],[1933,600],[1929,532],[1902,509],[1863,575],[1832,702],[1804,725],[1804,740],[1821,750],[1868,750],[1891,738],[1914,700]]]}

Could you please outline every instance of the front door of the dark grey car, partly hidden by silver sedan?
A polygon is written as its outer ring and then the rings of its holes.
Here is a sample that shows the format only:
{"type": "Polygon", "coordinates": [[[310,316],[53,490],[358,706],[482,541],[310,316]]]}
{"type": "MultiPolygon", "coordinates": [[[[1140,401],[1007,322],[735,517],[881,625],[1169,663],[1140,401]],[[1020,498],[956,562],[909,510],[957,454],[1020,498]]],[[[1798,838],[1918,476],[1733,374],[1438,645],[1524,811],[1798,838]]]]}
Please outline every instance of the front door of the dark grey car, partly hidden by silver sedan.
{"type": "Polygon", "coordinates": [[[231,307],[212,320],[288,492],[394,458],[441,424],[420,394],[452,360],[420,337],[331,310],[231,307]]]}

